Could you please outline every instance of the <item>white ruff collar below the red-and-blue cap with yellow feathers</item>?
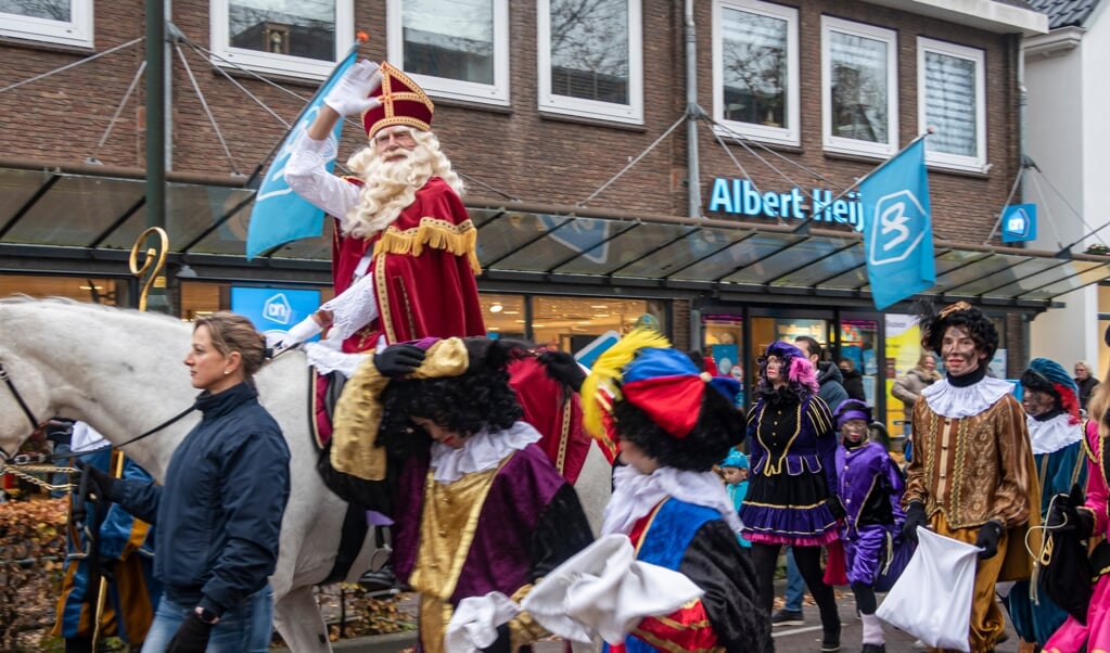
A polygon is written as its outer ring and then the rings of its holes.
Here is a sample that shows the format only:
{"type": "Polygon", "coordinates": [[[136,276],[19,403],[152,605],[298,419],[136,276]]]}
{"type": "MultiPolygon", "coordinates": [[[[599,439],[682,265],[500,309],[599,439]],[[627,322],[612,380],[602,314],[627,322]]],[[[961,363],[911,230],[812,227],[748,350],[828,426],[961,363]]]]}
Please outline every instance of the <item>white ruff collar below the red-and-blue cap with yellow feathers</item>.
{"type": "Polygon", "coordinates": [[[605,506],[602,535],[627,535],[637,521],[667,496],[712,508],[720,513],[734,532],[740,532],[740,518],[717,474],[674,468],[659,468],[652,474],[642,474],[636,468],[625,465],[613,472],[613,498],[605,506]]]}

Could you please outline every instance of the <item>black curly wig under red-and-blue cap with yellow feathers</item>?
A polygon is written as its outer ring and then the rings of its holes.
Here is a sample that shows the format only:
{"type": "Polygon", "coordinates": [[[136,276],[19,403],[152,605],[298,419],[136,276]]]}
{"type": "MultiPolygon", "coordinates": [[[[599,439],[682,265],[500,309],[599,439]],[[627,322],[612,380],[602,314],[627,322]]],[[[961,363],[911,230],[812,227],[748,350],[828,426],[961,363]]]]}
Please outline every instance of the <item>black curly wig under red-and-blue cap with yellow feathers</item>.
{"type": "Polygon", "coordinates": [[[697,424],[686,438],[675,438],[627,401],[613,406],[617,434],[660,465],[708,472],[744,440],[744,413],[720,392],[706,388],[697,424]]]}

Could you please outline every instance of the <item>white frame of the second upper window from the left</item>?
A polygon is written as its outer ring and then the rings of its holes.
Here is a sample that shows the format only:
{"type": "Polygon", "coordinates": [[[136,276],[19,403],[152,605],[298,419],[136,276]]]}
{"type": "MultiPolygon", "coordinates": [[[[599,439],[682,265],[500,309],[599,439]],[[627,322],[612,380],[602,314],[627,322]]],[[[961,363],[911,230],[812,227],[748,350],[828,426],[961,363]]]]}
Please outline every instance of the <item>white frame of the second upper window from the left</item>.
{"type": "Polygon", "coordinates": [[[331,61],[234,48],[231,46],[229,26],[230,2],[231,0],[212,0],[212,13],[209,19],[212,32],[212,63],[221,68],[241,66],[262,74],[322,80],[331,74],[336,62],[354,43],[354,0],[335,0],[335,52],[331,61]]]}

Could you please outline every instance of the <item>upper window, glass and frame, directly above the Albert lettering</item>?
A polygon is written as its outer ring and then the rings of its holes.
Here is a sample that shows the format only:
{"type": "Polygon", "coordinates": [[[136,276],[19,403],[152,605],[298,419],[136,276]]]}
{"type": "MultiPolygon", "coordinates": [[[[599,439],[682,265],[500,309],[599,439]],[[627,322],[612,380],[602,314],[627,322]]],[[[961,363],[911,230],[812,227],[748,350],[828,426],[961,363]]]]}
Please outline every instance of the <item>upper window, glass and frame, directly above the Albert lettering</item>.
{"type": "Polygon", "coordinates": [[[718,0],[713,18],[714,118],[746,137],[800,144],[798,10],[718,0]]]}

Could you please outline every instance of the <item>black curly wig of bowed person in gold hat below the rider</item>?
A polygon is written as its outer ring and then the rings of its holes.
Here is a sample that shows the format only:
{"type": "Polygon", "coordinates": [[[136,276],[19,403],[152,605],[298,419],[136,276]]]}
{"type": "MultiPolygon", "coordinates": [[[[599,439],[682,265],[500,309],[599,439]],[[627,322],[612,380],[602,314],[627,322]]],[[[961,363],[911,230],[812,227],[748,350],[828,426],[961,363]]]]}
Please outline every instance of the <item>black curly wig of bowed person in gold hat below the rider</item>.
{"type": "Polygon", "coordinates": [[[507,364],[516,346],[485,338],[467,338],[465,343],[470,353],[465,374],[390,382],[382,393],[379,444],[402,454],[426,449],[431,438],[412,418],[425,418],[470,436],[483,429],[508,429],[524,416],[508,384],[507,364]]]}

